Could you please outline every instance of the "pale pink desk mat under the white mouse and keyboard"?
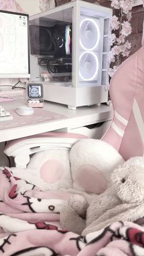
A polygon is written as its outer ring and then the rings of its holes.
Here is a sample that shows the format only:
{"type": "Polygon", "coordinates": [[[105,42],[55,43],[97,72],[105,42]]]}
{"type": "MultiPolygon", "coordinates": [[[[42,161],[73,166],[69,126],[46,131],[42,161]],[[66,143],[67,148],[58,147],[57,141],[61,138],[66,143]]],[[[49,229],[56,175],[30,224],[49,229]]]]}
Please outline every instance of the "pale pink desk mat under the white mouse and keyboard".
{"type": "MultiPolygon", "coordinates": [[[[8,110],[9,111],[9,110],[8,110]]],[[[67,119],[66,115],[60,115],[45,109],[34,109],[33,115],[18,115],[14,109],[9,112],[13,116],[12,120],[0,122],[0,130],[15,128],[26,125],[34,125],[37,123],[47,123],[54,120],[67,119]]]]}

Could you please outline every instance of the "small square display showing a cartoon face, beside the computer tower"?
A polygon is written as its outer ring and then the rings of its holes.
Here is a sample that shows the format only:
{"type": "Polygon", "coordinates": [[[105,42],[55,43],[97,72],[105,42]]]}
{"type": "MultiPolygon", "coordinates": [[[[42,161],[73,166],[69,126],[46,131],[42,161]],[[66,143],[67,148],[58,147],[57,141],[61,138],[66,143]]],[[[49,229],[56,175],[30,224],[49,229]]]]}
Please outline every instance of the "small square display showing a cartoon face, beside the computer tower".
{"type": "Polygon", "coordinates": [[[28,98],[43,98],[42,84],[28,84],[27,85],[28,98]]]}

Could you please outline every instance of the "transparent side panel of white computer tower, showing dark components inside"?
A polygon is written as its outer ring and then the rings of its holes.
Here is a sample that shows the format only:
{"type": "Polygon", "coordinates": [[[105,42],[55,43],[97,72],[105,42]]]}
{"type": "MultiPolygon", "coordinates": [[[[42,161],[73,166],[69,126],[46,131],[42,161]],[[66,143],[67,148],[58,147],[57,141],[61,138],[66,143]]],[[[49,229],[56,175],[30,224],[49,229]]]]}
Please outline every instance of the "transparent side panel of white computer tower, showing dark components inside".
{"type": "Polygon", "coordinates": [[[30,21],[32,80],[72,86],[73,8],[30,21]]]}

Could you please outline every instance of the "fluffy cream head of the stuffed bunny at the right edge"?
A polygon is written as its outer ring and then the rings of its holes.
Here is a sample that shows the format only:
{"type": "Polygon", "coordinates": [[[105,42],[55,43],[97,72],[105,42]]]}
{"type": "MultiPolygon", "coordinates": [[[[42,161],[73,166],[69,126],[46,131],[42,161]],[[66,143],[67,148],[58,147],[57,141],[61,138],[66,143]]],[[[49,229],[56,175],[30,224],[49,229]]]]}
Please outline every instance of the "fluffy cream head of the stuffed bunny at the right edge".
{"type": "Polygon", "coordinates": [[[113,170],[110,181],[122,202],[139,203],[144,200],[144,167],[123,164],[113,170]]]}

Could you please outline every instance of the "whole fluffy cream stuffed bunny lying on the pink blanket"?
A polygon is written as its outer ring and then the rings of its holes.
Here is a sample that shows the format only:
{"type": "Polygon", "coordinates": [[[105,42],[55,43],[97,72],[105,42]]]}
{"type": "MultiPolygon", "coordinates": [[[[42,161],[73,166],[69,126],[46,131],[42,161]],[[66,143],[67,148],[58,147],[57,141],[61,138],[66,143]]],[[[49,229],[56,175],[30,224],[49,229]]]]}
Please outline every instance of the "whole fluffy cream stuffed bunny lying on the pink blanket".
{"type": "Polygon", "coordinates": [[[62,228],[87,235],[114,221],[136,222],[143,218],[144,158],[130,158],[113,170],[110,183],[111,186],[89,206],[84,197],[71,196],[60,212],[62,228]]]}

